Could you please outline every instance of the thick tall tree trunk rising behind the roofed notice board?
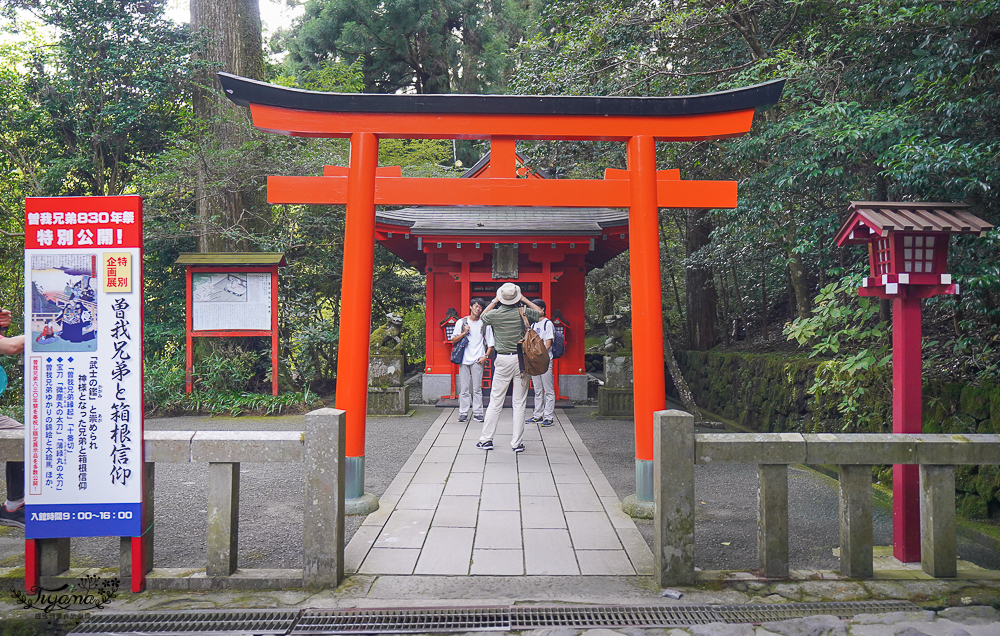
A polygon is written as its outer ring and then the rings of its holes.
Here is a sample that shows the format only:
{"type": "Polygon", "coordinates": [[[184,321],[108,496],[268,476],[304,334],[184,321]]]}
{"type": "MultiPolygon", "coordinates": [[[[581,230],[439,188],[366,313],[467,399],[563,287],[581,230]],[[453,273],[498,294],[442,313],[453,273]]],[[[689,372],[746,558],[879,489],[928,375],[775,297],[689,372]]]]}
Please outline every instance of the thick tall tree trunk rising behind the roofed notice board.
{"type": "MultiPolygon", "coordinates": [[[[239,127],[226,121],[238,108],[218,90],[217,71],[225,71],[250,79],[264,79],[264,52],[261,40],[260,6],[258,0],[191,0],[191,28],[204,31],[209,38],[201,54],[207,62],[194,90],[194,114],[208,126],[208,138],[221,149],[233,149],[243,142],[239,127]]],[[[258,190],[218,191],[208,185],[207,166],[198,175],[195,207],[201,236],[198,249],[202,252],[246,250],[245,240],[226,239],[226,229],[252,231],[264,223],[267,203],[258,190]]],[[[244,232],[239,232],[242,235],[244,232]]]]}

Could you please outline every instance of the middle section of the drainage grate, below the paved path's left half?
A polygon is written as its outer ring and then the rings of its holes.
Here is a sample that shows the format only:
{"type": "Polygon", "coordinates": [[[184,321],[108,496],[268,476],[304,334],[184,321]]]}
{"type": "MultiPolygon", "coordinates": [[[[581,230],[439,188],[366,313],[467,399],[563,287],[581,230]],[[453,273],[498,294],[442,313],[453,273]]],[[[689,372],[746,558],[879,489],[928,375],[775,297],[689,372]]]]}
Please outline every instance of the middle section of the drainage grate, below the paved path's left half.
{"type": "Polygon", "coordinates": [[[407,634],[508,631],[507,607],[307,610],[291,632],[299,634],[407,634]]]}

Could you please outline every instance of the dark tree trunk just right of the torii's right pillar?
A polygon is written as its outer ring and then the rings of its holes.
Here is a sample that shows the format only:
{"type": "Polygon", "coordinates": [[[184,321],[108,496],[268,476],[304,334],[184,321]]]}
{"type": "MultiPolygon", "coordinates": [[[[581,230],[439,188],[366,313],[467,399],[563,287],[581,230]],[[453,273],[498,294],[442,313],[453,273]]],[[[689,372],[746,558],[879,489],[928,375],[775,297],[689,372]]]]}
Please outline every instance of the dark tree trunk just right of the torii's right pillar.
{"type": "MultiPolygon", "coordinates": [[[[685,243],[689,257],[708,245],[711,232],[710,212],[688,211],[685,243]]],[[[710,268],[700,265],[688,267],[686,277],[688,348],[704,351],[715,346],[719,338],[715,325],[717,303],[715,279],[710,268]]]]}

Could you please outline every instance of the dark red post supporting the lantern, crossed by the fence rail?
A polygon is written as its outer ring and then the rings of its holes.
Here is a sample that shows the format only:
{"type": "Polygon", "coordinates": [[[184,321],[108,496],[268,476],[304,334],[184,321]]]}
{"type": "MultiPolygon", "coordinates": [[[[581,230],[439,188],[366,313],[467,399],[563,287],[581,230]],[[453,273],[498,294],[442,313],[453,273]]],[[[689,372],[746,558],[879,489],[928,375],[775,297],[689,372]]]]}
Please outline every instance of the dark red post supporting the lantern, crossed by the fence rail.
{"type": "MultiPolygon", "coordinates": [[[[923,430],[920,299],[892,301],[892,432],[923,430]]],[[[920,561],[920,478],[915,465],[892,467],[893,556],[920,561]]]]}

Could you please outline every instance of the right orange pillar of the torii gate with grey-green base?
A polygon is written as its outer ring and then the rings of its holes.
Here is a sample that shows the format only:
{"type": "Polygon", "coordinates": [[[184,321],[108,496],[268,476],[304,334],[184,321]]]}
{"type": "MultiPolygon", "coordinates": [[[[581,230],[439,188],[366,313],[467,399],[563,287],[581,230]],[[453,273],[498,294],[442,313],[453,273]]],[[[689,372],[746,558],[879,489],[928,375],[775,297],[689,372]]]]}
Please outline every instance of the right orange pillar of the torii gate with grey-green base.
{"type": "Polygon", "coordinates": [[[646,135],[631,137],[627,156],[631,194],[628,225],[629,274],[632,279],[635,488],[636,499],[651,502],[653,413],[666,407],[656,142],[646,135]]]}

